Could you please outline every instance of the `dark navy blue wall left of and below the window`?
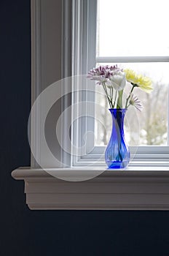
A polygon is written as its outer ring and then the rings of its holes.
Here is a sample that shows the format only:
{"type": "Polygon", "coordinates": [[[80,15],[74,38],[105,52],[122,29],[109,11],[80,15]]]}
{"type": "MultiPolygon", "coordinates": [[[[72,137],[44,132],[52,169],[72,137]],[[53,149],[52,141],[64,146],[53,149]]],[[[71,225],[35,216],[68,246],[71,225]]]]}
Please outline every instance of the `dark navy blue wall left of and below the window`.
{"type": "Polygon", "coordinates": [[[23,181],[11,172],[30,165],[30,40],[30,1],[1,0],[0,255],[168,256],[168,211],[31,211],[25,205],[23,181]]]}

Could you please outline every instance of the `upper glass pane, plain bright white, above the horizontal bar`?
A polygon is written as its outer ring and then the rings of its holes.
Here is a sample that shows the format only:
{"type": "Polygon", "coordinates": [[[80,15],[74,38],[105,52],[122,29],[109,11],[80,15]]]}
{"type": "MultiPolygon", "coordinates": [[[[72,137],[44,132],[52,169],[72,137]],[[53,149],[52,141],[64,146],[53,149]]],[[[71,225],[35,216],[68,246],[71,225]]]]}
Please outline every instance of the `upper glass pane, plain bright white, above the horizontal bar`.
{"type": "Polygon", "coordinates": [[[98,0],[97,56],[169,56],[168,0],[98,0]]]}

